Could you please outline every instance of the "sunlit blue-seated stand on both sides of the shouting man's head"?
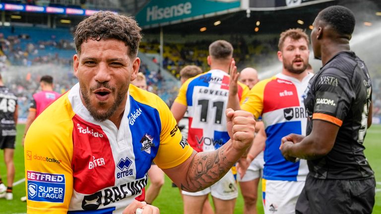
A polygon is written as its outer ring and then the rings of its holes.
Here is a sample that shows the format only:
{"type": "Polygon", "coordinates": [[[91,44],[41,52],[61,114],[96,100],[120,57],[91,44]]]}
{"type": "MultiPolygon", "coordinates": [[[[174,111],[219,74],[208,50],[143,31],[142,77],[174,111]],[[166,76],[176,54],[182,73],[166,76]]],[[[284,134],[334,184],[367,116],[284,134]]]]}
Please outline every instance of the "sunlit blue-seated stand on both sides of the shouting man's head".
{"type": "MultiPolygon", "coordinates": [[[[60,93],[76,83],[71,71],[75,48],[70,29],[2,27],[0,47],[0,69],[12,74],[5,78],[19,97],[21,120],[27,116],[30,95],[38,89],[34,83],[41,75],[55,73],[55,78],[60,80],[55,84],[55,90],[60,93]],[[44,34],[41,34],[42,31],[44,34]]],[[[158,94],[170,106],[180,82],[166,71],[160,72],[159,66],[152,63],[149,57],[143,54],[139,57],[142,59],[140,71],[147,76],[149,91],[158,94]]]]}

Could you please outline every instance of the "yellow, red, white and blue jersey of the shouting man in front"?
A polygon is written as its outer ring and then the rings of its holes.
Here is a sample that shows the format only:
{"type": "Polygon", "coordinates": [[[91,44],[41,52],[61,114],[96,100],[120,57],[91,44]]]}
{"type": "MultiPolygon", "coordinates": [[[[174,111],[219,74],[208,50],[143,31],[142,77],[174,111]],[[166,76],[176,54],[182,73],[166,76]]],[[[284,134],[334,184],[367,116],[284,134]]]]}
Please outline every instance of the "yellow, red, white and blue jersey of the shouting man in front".
{"type": "Polygon", "coordinates": [[[121,214],[147,184],[152,160],[175,167],[192,154],[167,105],[129,86],[119,129],[95,121],[79,84],[47,107],[25,138],[29,214],[121,214]]]}

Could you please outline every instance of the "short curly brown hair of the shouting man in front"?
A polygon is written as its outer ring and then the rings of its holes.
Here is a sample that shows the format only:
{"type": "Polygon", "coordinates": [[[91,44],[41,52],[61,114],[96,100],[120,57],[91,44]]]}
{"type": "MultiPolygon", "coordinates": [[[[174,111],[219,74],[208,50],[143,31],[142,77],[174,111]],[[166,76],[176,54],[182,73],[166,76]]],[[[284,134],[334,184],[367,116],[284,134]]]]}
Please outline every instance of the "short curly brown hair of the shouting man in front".
{"type": "Polygon", "coordinates": [[[136,57],[141,28],[131,16],[117,15],[111,11],[99,11],[82,20],[74,32],[74,43],[77,54],[81,53],[81,45],[88,39],[117,39],[125,42],[128,55],[136,57]]]}

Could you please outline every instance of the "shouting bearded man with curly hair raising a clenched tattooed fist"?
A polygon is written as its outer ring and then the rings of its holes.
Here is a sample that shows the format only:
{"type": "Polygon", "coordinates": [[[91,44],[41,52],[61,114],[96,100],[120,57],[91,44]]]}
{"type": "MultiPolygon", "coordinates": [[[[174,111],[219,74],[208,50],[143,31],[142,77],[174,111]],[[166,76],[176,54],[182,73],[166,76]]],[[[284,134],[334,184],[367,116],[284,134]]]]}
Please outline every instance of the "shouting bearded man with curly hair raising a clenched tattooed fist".
{"type": "Polygon", "coordinates": [[[73,69],[79,83],[25,137],[28,214],[135,214],[137,208],[158,214],[134,200],[152,160],[178,186],[199,191],[250,146],[253,116],[228,109],[233,139],[214,152],[194,152],[164,101],[129,84],[140,65],[140,30],[131,17],[103,11],[78,24],[73,69]]]}

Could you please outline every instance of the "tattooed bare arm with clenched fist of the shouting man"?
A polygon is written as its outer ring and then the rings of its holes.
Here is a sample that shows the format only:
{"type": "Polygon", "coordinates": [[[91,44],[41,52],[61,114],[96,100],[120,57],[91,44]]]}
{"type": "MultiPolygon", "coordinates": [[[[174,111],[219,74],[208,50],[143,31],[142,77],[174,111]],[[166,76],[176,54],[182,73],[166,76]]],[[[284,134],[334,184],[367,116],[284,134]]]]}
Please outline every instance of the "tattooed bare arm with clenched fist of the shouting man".
{"type": "Polygon", "coordinates": [[[196,192],[214,184],[229,171],[253,142],[253,114],[227,109],[226,116],[231,140],[224,146],[213,152],[193,152],[191,157],[180,165],[163,169],[183,190],[196,192]]]}

